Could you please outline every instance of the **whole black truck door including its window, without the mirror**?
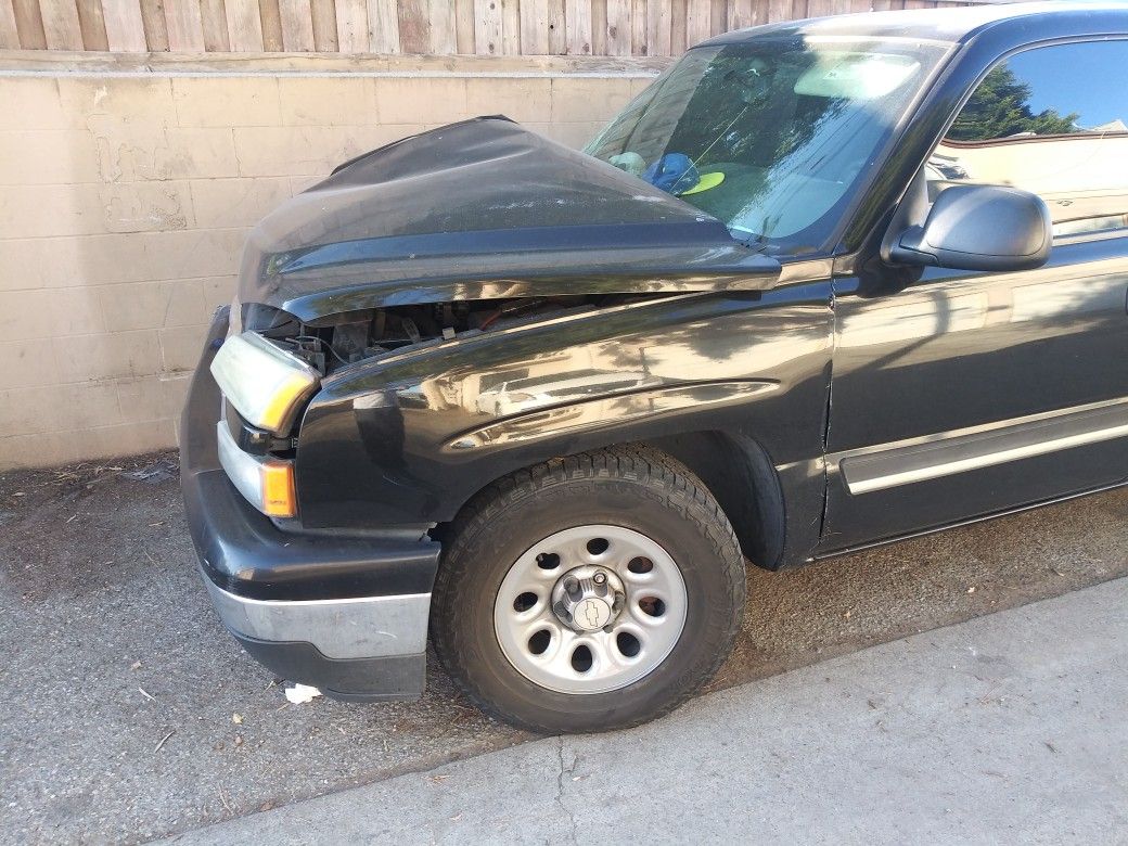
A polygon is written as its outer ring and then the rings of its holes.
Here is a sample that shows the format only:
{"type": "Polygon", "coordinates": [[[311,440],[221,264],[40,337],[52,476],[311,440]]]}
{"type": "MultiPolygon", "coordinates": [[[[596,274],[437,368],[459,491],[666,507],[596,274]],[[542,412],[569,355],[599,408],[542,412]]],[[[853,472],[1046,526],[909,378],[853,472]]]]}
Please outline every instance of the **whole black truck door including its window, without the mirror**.
{"type": "Polygon", "coordinates": [[[1128,479],[1123,68],[1123,41],[1014,54],[926,165],[929,200],[969,183],[1041,195],[1045,267],[927,268],[874,298],[840,285],[825,552],[1128,479]]]}

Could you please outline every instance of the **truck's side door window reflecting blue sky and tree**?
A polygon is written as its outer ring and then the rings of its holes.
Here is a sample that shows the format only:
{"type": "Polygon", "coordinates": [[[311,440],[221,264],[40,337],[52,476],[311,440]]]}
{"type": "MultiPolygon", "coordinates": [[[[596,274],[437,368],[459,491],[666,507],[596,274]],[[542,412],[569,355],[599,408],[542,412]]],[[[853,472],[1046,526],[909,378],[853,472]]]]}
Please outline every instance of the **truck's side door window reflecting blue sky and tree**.
{"type": "Polygon", "coordinates": [[[928,194],[1012,185],[1049,205],[1056,236],[1128,227],[1128,41],[1017,53],[987,74],[927,165],[928,194]]]}

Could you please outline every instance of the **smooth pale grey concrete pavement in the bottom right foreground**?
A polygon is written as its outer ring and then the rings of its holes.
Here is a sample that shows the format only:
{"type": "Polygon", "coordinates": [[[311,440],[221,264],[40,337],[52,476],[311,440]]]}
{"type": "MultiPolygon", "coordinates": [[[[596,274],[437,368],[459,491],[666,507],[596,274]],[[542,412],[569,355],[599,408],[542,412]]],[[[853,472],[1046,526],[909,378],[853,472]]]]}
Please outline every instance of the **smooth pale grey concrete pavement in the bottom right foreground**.
{"type": "Polygon", "coordinates": [[[177,843],[1123,843],[1126,607],[1120,579],[177,843]]]}

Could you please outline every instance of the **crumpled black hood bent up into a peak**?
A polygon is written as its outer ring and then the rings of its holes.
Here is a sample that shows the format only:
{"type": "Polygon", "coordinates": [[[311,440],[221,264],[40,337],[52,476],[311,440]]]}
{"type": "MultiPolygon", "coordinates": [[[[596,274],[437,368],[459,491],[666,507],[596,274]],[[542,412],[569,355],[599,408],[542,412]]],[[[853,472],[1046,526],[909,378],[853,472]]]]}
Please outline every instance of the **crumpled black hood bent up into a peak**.
{"type": "Polygon", "coordinates": [[[250,233],[243,302],[302,320],[458,299],[770,288],[715,218],[503,117],[338,167],[250,233]]]}

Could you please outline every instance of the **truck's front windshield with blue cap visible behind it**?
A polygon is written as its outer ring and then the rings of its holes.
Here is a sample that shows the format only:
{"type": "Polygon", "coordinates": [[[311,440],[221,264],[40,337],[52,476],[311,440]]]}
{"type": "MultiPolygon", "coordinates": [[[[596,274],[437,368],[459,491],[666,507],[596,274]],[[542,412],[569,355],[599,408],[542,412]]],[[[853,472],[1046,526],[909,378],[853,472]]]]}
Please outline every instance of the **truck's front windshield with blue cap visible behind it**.
{"type": "Polygon", "coordinates": [[[948,45],[810,37],[699,47],[587,147],[776,254],[822,245],[948,45]]]}

